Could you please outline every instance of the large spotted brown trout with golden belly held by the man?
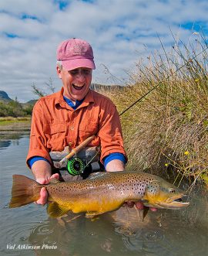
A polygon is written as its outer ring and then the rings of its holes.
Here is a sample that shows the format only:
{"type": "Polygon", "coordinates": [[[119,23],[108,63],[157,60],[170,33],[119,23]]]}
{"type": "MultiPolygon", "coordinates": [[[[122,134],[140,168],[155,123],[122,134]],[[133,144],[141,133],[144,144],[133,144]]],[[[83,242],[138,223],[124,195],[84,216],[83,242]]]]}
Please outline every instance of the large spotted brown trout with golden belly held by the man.
{"type": "Polygon", "coordinates": [[[146,172],[99,172],[89,179],[73,182],[52,181],[41,185],[22,175],[13,176],[10,208],[39,200],[40,189],[49,193],[47,212],[61,217],[69,210],[93,217],[117,210],[127,201],[142,201],[146,207],[180,209],[183,191],[158,176],[146,172]]]}

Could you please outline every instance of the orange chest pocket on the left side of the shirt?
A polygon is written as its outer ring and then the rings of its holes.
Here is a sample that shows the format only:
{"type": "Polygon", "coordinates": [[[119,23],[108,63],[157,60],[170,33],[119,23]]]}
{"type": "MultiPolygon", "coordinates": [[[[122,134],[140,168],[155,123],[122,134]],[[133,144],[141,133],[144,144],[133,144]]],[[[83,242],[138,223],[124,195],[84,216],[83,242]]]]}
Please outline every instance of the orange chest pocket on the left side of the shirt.
{"type": "Polygon", "coordinates": [[[47,138],[47,148],[51,151],[62,151],[65,143],[65,123],[45,124],[43,130],[47,138]]]}

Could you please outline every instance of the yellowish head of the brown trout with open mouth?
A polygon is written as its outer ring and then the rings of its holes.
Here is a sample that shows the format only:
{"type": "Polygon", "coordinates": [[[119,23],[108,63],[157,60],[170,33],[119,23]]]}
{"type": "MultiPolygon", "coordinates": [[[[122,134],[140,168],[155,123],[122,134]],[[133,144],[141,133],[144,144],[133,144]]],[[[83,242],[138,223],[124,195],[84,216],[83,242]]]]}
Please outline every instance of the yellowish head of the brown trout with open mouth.
{"type": "Polygon", "coordinates": [[[190,205],[188,202],[183,202],[184,196],[186,195],[181,189],[165,180],[153,180],[146,186],[142,201],[146,207],[180,209],[190,205]]]}

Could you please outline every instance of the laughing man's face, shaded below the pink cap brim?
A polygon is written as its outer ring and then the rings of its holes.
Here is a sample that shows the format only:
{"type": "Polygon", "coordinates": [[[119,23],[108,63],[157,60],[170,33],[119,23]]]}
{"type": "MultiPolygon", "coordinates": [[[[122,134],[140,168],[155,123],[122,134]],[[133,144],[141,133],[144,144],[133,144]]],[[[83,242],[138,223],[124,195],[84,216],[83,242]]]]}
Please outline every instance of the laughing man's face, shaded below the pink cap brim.
{"type": "Polygon", "coordinates": [[[89,91],[92,81],[92,70],[87,67],[79,67],[75,70],[60,70],[57,67],[59,78],[62,79],[64,96],[71,101],[81,101],[89,91]]]}

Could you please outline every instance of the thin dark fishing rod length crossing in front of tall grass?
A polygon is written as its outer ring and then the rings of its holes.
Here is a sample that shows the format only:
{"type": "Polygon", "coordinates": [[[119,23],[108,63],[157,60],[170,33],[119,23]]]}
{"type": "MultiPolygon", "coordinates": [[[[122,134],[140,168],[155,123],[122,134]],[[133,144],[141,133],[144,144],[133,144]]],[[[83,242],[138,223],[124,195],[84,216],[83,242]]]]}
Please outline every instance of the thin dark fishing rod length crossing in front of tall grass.
{"type": "Polygon", "coordinates": [[[184,63],[181,67],[179,67],[178,69],[176,69],[176,71],[174,71],[173,73],[169,74],[169,76],[165,77],[164,80],[160,81],[158,84],[156,84],[156,86],[154,86],[151,90],[149,90],[146,94],[144,94],[142,97],[139,97],[138,100],[134,101],[133,104],[131,104],[128,108],[126,108],[124,111],[122,111],[119,116],[121,116],[122,114],[126,113],[126,111],[129,110],[129,108],[132,108],[135,104],[141,102],[143,100],[143,98],[145,98],[148,94],[150,94],[153,90],[155,90],[157,87],[159,87],[159,85],[163,84],[163,82],[167,79],[169,79],[169,77],[172,77],[174,74],[176,74],[179,70],[181,70],[183,67],[186,66],[187,63],[190,63],[193,60],[196,60],[196,57],[199,56],[200,54],[202,54],[203,52],[206,51],[206,49],[208,49],[208,46],[203,49],[203,51],[201,51],[200,53],[196,54],[196,56],[194,56],[193,58],[190,58],[189,60],[186,60],[186,63],[184,63]]]}

